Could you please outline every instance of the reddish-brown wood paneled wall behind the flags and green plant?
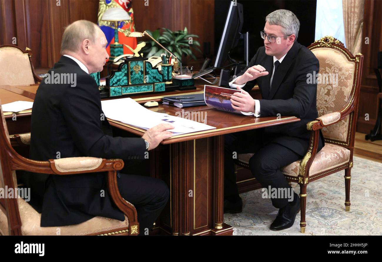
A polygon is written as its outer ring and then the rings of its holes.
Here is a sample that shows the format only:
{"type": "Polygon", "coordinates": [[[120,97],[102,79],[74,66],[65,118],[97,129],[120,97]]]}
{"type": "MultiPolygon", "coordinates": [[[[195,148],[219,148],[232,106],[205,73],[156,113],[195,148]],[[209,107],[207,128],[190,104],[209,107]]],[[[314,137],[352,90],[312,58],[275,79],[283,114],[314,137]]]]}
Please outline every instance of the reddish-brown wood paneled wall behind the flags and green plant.
{"type": "MultiPolygon", "coordinates": [[[[0,45],[32,49],[35,68],[50,68],[60,58],[65,26],[86,19],[97,23],[99,0],[0,0],[0,45]]],[[[133,0],[136,31],[167,27],[199,35],[214,50],[214,0],[133,0]]],[[[202,54],[197,58],[203,60],[202,54]]],[[[191,61],[190,61],[191,62],[191,61]]],[[[200,63],[200,61],[197,61],[200,63]]]]}

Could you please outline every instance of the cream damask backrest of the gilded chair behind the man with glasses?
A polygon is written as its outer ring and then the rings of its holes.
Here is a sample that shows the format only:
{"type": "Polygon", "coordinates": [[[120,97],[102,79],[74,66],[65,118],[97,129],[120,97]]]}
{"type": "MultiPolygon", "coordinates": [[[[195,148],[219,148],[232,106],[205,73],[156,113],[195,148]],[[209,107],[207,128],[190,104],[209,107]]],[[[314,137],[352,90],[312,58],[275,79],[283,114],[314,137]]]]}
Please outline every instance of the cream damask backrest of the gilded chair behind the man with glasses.
{"type": "Polygon", "coordinates": [[[355,57],[342,42],[332,36],[322,37],[310,49],[320,63],[316,72],[318,116],[332,112],[352,112],[340,122],[322,128],[325,142],[354,146],[358,94],[361,83],[363,55],[355,57]]]}

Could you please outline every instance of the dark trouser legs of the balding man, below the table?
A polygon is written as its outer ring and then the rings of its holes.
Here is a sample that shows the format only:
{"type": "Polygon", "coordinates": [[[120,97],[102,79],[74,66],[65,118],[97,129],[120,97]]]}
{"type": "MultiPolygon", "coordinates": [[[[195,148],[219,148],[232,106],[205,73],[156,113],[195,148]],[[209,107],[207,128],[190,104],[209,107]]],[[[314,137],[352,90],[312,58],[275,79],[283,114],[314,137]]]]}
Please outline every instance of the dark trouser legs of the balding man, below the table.
{"type": "Polygon", "coordinates": [[[167,184],[157,178],[118,171],[117,184],[121,196],[137,210],[139,235],[144,235],[146,228],[152,227],[168,202],[170,191],[167,184]]]}

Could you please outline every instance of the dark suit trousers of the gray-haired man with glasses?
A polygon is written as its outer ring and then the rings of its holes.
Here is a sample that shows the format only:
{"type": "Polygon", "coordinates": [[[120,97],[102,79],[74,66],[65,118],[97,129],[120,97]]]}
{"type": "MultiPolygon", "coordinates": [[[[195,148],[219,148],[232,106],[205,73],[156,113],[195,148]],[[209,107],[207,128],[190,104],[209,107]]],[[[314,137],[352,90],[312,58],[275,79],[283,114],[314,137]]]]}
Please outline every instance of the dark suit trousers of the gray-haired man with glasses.
{"type": "MultiPolygon", "coordinates": [[[[224,199],[235,201],[239,197],[234,157],[244,153],[254,153],[249,159],[249,168],[263,188],[269,189],[270,186],[271,190],[275,188],[293,192],[280,168],[301,159],[302,156],[281,144],[272,142],[272,136],[272,134],[265,134],[263,129],[225,135],[224,199]]],[[[288,194],[283,196],[280,194],[271,199],[272,205],[276,208],[282,208],[288,204],[288,194]]]]}

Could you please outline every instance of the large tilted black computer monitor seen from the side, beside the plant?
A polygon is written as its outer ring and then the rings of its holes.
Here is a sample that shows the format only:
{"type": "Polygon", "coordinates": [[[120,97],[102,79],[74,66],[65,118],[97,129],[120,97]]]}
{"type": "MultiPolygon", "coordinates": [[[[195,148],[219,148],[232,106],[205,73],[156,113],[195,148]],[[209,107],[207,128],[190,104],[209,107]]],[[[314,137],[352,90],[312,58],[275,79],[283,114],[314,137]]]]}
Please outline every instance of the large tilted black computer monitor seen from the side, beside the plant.
{"type": "Polygon", "coordinates": [[[219,68],[223,65],[225,60],[227,60],[230,50],[238,44],[242,27],[243,5],[237,2],[231,2],[216,54],[215,68],[219,68]]]}

